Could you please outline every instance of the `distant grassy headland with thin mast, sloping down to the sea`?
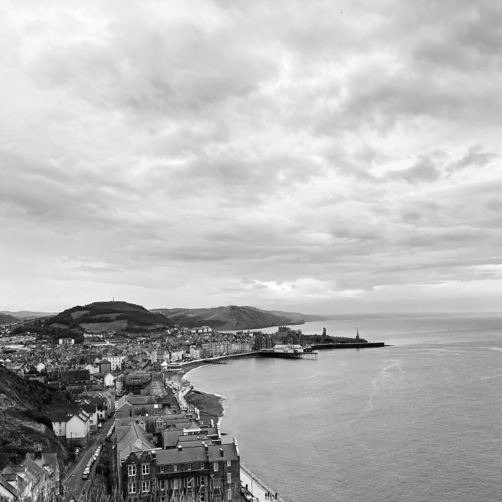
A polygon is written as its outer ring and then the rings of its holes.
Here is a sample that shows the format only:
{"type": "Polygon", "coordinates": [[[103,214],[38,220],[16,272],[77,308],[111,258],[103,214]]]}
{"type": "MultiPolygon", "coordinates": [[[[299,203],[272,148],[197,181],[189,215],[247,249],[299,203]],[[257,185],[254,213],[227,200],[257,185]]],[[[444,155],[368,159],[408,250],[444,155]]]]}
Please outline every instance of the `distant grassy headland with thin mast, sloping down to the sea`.
{"type": "MultiPolygon", "coordinates": [[[[301,319],[256,307],[214,307],[212,309],[153,309],[176,324],[189,328],[207,325],[216,330],[260,329],[270,326],[303,324],[301,319]]],[[[286,313],[285,313],[286,314],[286,313]]]]}

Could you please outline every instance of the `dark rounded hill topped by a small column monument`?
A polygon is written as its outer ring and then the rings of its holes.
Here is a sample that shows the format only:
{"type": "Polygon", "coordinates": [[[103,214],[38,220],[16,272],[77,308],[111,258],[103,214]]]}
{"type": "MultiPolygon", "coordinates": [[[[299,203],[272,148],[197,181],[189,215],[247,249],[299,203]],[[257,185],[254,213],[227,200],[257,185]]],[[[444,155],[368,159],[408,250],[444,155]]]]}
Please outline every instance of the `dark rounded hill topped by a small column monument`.
{"type": "Polygon", "coordinates": [[[50,326],[68,326],[86,332],[119,331],[121,329],[154,329],[172,327],[174,323],[141,305],[127,302],[95,302],[60,312],[45,321],[50,326]]]}

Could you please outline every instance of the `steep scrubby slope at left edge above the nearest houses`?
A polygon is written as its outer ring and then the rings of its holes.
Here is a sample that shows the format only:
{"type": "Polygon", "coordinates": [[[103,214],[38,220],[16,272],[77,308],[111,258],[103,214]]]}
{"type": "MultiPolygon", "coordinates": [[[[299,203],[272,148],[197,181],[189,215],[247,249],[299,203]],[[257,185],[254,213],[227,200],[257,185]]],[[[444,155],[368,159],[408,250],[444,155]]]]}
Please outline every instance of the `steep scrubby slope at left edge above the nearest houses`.
{"type": "Polygon", "coordinates": [[[67,450],[44,413],[47,406],[57,406],[58,402],[68,402],[59,390],[25,380],[0,365],[0,469],[8,463],[10,453],[24,456],[38,444],[44,451],[56,452],[65,465],[67,450]]]}

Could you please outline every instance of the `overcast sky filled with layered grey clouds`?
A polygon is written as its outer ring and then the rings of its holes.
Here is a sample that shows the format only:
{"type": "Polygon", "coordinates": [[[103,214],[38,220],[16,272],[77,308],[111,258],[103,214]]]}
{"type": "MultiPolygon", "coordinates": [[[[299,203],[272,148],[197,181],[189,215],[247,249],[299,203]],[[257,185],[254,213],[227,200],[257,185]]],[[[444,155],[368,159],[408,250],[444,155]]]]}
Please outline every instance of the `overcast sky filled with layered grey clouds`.
{"type": "Polygon", "coordinates": [[[0,309],[500,311],[501,27],[492,0],[3,0],[0,309]]]}

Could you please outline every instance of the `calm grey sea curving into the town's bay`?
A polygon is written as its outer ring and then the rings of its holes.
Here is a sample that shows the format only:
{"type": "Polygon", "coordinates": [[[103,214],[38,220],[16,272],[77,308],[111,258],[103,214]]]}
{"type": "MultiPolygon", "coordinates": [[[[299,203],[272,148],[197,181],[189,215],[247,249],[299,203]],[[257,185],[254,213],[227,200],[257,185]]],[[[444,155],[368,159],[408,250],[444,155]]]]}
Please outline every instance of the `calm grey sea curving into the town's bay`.
{"type": "Polygon", "coordinates": [[[188,374],[224,397],[223,440],[244,465],[284,500],[502,500],[502,314],[292,326],[323,327],[389,346],[188,374]]]}

